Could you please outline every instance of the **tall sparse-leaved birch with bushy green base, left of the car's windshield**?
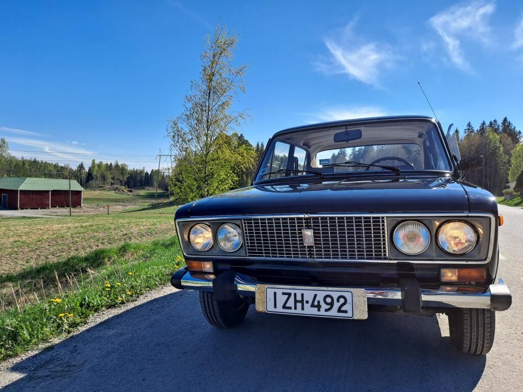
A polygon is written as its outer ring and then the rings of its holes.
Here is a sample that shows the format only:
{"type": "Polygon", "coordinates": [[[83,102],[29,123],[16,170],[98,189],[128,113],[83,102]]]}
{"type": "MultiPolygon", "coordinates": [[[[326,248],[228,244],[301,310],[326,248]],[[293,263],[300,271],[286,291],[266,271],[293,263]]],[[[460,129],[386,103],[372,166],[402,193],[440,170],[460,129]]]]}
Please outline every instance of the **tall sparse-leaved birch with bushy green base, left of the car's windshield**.
{"type": "Polygon", "coordinates": [[[234,66],[238,35],[219,24],[200,55],[198,79],[192,80],[184,111],[169,121],[168,136],[176,167],[170,186],[175,200],[188,202],[246,185],[256,150],[236,129],[248,118],[232,109],[245,93],[247,66],[234,66]]]}

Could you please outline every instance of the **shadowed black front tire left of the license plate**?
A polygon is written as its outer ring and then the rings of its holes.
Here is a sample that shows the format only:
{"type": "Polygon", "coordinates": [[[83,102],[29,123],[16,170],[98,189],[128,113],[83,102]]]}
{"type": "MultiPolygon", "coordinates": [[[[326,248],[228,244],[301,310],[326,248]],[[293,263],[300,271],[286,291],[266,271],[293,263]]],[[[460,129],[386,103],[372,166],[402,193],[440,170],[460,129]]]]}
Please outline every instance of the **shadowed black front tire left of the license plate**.
{"type": "Polygon", "coordinates": [[[249,309],[249,304],[240,297],[234,301],[216,301],[214,294],[205,291],[200,291],[200,305],[209,324],[217,328],[240,325],[249,309]]]}

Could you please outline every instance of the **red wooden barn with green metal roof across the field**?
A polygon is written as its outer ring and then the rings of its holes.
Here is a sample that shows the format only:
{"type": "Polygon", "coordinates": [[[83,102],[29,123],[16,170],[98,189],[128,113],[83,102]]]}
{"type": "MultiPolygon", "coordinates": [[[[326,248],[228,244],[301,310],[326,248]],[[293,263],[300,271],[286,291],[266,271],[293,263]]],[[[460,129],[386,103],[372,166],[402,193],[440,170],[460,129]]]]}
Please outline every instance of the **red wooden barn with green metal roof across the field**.
{"type": "MultiPolygon", "coordinates": [[[[83,191],[71,180],[71,206],[83,204],[83,191]]],[[[30,177],[0,178],[1,204],[5,208],[69,207],[69,180],[30,177]]]]}

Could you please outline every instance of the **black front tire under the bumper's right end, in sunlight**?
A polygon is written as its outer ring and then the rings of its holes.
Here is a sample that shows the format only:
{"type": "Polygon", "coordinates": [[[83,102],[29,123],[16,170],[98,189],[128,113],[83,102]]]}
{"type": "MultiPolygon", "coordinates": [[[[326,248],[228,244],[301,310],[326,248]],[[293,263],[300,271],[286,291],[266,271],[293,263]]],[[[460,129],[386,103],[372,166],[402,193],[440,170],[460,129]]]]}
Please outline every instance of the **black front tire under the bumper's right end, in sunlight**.
{"type": "Polygon", "coordinates": [[[450,340],[467,354],[482,355],[492,349],[496,313],[486,309],[456,309],[448,313],[450,340]]]}

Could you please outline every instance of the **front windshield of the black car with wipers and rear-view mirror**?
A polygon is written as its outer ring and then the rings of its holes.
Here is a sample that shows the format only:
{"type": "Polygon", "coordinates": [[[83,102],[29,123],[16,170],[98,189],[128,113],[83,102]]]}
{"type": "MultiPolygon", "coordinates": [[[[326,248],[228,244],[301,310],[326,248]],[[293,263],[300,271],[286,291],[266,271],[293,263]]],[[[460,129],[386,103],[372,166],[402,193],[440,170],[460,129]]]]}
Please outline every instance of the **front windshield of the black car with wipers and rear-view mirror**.
{"type": "Polygon", "coordinates": [[[436,125],[428,120],[380,121],[281,134],[267,146],[255,181],[306,176],[311,171],[325,177],[344,172],[395,174],[386,167],[402,174],[451,171],[436,125]]]}

